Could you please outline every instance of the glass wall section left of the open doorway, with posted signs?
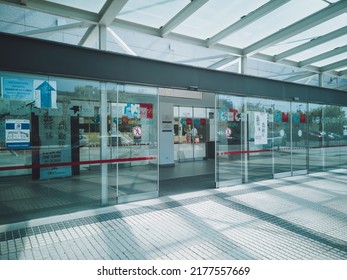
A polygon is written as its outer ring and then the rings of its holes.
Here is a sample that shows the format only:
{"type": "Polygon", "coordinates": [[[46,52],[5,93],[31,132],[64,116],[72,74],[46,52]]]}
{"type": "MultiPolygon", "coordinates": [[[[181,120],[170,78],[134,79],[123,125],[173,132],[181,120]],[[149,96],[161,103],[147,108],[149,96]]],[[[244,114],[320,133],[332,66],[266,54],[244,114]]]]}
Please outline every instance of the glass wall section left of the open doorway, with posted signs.
{"type": "Polygon", "coordinates": [[[158,196],[157,98],[1,72],[0,224],[158,196]]]}

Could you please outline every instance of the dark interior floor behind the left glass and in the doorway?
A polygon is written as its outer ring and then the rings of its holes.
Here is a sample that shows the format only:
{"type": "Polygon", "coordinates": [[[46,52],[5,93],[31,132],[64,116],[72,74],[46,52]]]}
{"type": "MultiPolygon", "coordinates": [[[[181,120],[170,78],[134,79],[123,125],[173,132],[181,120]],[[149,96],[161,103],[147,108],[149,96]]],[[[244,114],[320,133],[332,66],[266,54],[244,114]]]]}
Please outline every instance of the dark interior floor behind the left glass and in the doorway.
{"type": "MultiPolygon", "coordinates": [[[[115,169],[110,168],[109,204],[117,204],[121,196],[156,191],[157,172],[157,167],[149,165],[122,168],[117,179],[115,169]]],[[[215,187],[213,160],[178,163],[174,167],[160,168],[159,174],[160,196],[215,187]],[[179,184],[177,178],[180,178],[179,184]]],[[[33,180],[31,175],[1,179],[0,225],[100,207],[100,168],[53,180],[33,180]]]]}

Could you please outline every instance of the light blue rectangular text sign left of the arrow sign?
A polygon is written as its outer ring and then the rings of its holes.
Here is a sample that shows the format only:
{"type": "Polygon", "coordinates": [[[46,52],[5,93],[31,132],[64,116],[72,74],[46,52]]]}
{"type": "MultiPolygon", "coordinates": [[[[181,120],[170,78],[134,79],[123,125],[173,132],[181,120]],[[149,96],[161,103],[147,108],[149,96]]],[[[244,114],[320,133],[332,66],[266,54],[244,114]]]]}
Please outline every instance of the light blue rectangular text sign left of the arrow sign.
{"type": "Polygon", "coordinates": [[[1,78],[2,98],[21,101],[33,101],[33,80],[17,78],[1,78]]]}

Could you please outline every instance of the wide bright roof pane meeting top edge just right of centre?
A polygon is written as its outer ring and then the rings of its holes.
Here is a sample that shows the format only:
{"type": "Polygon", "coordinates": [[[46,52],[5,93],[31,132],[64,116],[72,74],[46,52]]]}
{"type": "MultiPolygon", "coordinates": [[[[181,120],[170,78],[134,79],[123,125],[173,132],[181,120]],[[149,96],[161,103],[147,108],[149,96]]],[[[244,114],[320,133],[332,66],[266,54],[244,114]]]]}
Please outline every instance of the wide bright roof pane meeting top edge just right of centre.
{"type": "Polygon", "coordinates": [[[266,0],[208,1],[173,32],[205,40],[265,4],[266,0]]]}

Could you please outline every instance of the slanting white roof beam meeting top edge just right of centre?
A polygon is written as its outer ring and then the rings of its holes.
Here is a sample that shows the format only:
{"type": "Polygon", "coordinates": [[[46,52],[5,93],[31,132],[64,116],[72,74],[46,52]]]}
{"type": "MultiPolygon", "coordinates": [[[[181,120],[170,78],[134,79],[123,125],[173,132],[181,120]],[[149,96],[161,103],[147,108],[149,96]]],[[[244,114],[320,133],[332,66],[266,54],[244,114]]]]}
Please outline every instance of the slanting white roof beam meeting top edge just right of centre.
{"type": "Polygon", "coordinates": [[[200,9],[207,2],[208,0],[192,0],[187,6],[185,6],[180,12],[178,12],[172,19],[170,19],[164,26],[160,28],[161,36],[165,37],[174,28],[180,25],[192,14],[194,14],[198,9],[200,9]]]}

